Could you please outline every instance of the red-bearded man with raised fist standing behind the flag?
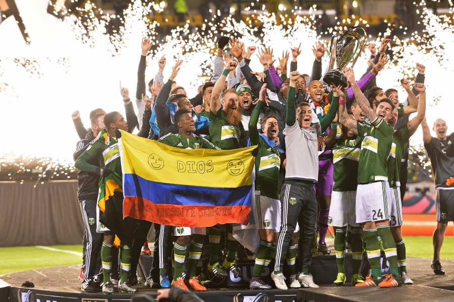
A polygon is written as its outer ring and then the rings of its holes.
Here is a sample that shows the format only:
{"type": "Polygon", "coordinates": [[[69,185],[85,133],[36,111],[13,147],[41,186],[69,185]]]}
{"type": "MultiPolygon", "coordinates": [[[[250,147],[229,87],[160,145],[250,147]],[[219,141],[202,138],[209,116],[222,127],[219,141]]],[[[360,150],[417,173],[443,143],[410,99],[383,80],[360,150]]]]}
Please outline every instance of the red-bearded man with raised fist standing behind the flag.
{"type": "MultiPolygon", "coordinates": [[[[227,75],[237,67],[238,63],[228,59],[225,63],[225,69],[219,79],[214,84],[210,98],[210,119],[209,133],[213,145],[222,150],[237,149],[245,145],[246,134],[243,124],[241,123],[242,114],[238,101],[238,94],[235,89],[228,89],[221,93],[227,75]],[[222,108],[221,108],[222,104],[222,108]]],[[[232,224],[227,224],[228,231],[228,253],[222,266],[218,262],[217,253],[219,250],[220,228],[214,226],[210,229],[210,260],[208,270],[215,276],[226,277],[226,270],[232,271],[235,278],[242,276],[240,267],[236,264],[235,254],[239,243],[232,235],[232,224]],[[217,230],[216,230],[217,229],[217,230]]]]}

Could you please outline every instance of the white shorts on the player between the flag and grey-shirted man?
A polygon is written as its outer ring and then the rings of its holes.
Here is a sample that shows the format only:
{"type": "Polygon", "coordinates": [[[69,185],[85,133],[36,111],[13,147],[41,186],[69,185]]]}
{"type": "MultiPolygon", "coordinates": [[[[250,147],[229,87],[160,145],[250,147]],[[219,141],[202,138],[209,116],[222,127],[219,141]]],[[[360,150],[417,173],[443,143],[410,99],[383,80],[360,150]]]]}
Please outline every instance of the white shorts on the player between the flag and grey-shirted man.
{"type": "Polygon", "coordinates": [[[275,233],[280,229],[280,200],[260,195],[255,192],[254,218],[257,229],[272,229],[275,233]]]}

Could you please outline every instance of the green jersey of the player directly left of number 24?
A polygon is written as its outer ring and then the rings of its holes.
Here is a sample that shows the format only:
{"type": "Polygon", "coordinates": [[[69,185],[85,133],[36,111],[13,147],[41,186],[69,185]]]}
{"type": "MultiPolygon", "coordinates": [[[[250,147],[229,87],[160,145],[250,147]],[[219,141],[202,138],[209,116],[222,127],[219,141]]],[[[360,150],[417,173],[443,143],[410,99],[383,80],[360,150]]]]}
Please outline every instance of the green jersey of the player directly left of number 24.
{"type": "Polygon", "coordinates": [[[332,148],[334,166],[332,191],[356,191],[362,140],[359,135],[351,140],[336,139],[336,145],[332,148]]]}

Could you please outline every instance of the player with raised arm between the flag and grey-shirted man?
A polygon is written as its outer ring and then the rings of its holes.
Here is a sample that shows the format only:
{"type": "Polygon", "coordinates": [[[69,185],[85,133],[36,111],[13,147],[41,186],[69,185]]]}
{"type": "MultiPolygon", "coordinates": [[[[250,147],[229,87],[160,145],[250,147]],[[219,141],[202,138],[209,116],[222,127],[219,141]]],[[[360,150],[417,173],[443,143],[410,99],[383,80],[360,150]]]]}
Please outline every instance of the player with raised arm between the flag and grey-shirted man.
{"type": "MultiPolygon", "coordinates": [[[[261,278],[263,268],[275,257],[275,238],[280,227],[279,201],[279,168],[280,154],[283,153],[279,145],[277,134],[279,126],[277,117],[265,116],[262,120],[262,132],[258,133],[257,122],[260,109],[266,95],[266,84],[262,85],[258,102],[252,111],[249,120],[249,137],[251,145],[257,145],[258,153],[255,160],[255,200],[254,215],[256,227],[260,234],[260,246],[255,255],[254,270],[249,282],[251,289],[270,289],[271,286],[261,278]]],[[[295,279],[295,276],[293,276],[295,279]]],[[[298,286],[300,283],[295,279],[298,286]]]]}

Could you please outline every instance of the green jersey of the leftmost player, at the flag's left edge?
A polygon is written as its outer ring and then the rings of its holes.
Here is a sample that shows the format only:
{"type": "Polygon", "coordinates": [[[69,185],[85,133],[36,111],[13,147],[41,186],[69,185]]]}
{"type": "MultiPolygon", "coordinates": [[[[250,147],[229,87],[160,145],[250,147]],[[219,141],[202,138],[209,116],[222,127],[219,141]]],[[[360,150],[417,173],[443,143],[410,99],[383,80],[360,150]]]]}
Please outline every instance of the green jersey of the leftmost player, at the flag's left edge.
{"type": "Polygon", "coordinates": [[[90,157],[99,159],[100,167],[106,167],[119,176],[123,175],[117,138],[110,137],[107,132],[104,132],[90,143],[85,152],[90,157]]]}

